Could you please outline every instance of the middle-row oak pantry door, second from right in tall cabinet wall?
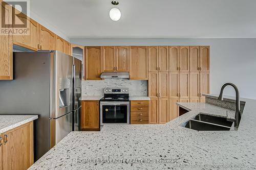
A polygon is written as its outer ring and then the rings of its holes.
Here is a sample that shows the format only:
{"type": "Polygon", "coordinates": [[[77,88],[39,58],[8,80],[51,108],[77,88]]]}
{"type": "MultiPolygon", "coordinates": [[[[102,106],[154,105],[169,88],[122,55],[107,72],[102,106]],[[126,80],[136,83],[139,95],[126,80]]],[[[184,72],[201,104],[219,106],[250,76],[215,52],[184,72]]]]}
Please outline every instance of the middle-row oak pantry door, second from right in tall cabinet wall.
{"type": "Polygon", "coordinates": [[[200,73],[190,72],[190,98],[200,97],[200,73]]]}

